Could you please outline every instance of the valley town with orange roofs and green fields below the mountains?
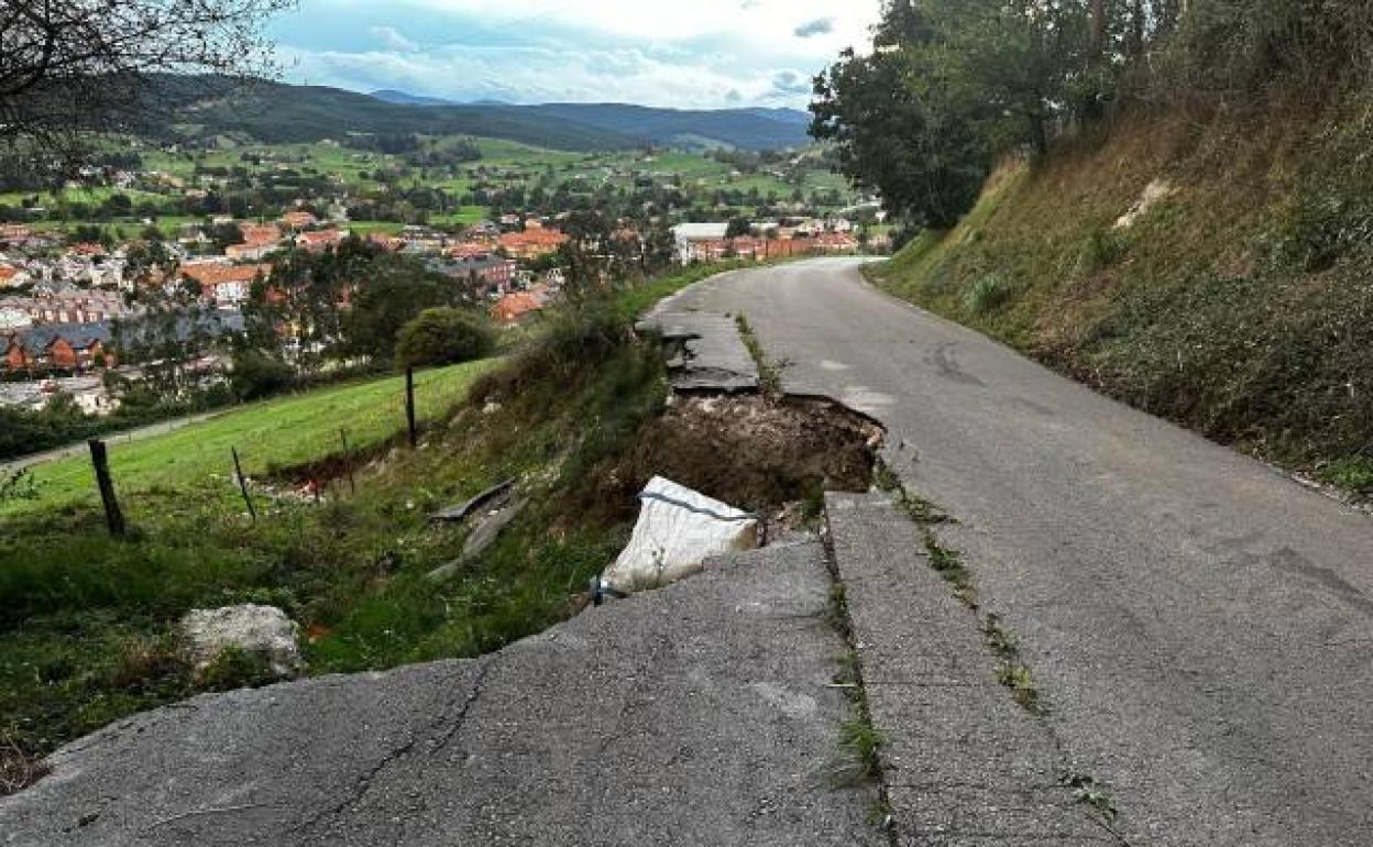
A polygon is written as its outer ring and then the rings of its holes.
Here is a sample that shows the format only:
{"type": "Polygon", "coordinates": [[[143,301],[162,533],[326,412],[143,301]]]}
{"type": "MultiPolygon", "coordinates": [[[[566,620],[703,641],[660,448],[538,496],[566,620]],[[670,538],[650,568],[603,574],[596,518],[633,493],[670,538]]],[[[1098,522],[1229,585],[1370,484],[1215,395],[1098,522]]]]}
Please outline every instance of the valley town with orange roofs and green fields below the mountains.
{"type": "Polygon", "coordinates": [[[0,406],[60,398],[93,416],[169,364],[177,379],[162,404],[227,383],[254,321],[269,324],[258,335],[283,361],[319,371],[371,273],[354,264],[358,279],[330,279],[334,317],[321,321],[320,303],[303,301],[320,297],[323,269],[345,253],[391,257],[443,280],[453,305],[519,327],[562,295],[568,273],[588,273],[586,257],[608,283],[670,265],[890,248],[877,203],[831,173],[821,148],[122,140],[103,166],[58,187],[27,174],[5,183],[0,406]]]}

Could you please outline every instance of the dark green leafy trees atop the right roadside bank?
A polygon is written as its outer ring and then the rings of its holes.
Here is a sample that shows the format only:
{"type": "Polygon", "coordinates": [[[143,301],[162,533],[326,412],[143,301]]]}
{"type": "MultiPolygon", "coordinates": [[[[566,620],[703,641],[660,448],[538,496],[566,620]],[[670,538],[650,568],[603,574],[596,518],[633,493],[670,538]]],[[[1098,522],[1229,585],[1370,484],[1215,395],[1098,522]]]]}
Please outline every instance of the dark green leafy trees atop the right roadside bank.
{"type": "Polygon", "coordinates": [[[1373,4],[888,0],[869,54],[816,78],[811,133],[913,227],[971,209],[997,156],[1142,103],[1238,110],[1361,84],[1373,4]]]}

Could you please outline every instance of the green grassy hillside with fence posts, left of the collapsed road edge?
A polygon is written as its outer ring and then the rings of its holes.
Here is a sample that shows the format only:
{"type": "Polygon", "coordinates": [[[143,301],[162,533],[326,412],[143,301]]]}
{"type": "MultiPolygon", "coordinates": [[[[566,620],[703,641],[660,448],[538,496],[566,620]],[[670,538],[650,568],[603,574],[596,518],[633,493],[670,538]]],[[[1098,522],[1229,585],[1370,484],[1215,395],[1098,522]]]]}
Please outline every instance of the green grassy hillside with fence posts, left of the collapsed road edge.
{"type": "Polygon", "coordinates": [[[599,468],[665,398],[660,354],[633,342],[625,321],[710,270],[626,290],[599,323],[535,327],[523,353],[472,388],[476,402],[445,410],[482,365],[427,375],[424,442],[361,468],[356,496],[342,480],[323,504],[258,489],[262,518],[253,523],[228,479],[227,450],[238,443],[261,471],[330,457],[339,426],[380,443],[402,426],[394,380],[117,449],[135,541],[104,534],[93,498],[62,493],[56,480],[80,478],[82,463],[40,474],[51,483],[44,508],[0,518],[0,740],[44,754],[126,714],[253,682],[253,669],[191,675],[174,634],[189,608],[280,605],[312,633],[312,673],[478,655],[564,618],[627,538],[623,508],[590,490],[599,468]],[[497,402],[486,406],[487,397],[497,402]],[[512,476],[531,498],[520,520],[452,578],[426,579],[465,541],[464,529],[426,515],[512,476]]]}

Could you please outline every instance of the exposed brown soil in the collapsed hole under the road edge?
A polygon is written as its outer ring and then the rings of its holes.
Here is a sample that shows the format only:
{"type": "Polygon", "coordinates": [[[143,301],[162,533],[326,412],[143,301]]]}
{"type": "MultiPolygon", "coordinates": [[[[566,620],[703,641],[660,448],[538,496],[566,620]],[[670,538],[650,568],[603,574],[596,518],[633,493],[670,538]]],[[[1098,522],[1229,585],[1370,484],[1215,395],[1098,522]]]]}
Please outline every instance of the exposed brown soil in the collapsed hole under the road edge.
{"type": "Polygon", "coordinates": [[[652,476],[763,516],[872,486],[883,430],[827,399],[677,397],[648,424],[603,489],[625,516],[652,476]]]}

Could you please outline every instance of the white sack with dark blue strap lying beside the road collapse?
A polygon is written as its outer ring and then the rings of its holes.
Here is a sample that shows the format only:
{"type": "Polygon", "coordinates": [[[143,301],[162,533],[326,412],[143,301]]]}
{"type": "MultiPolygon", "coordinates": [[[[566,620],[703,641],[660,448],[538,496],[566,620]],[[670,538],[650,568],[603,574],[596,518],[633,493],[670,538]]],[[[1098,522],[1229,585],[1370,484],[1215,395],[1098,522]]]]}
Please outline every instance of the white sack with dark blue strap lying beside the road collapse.
{"type": "Polygon", "coordinates": [[[638,496],[629,546],[601,581],[621,592],[665,586],[702,570],[711,556],[758,546],[758,519],[655,476],[638,496]]]}

